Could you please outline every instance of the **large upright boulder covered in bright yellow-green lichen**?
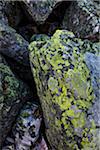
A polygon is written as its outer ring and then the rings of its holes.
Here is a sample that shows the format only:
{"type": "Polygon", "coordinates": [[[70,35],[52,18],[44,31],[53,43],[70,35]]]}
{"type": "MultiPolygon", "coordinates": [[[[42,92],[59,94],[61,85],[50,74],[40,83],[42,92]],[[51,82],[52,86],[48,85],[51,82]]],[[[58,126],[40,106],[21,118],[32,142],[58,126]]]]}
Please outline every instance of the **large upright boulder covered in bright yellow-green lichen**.
{"type": "Polygon", "coordinates": [[[100,147],[100,43],[57,30],[33,41],[30,62],[53,150],[100,147]]]}

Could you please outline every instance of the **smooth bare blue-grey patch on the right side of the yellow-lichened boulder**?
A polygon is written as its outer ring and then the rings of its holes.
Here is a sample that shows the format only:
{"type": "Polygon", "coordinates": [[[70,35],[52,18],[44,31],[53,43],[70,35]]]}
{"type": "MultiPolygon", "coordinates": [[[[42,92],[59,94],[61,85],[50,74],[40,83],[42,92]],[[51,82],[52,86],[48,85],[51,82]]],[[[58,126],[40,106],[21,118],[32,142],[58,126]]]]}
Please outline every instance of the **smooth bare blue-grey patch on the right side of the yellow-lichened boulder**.
{"type": "Polygon", "coordinates": [[[92,114],[96,126],[100,128],[100,56],[86,52],[85,61],[91,73],[91,81],[95,93],[94,105],[88,113],[92,114]]]}

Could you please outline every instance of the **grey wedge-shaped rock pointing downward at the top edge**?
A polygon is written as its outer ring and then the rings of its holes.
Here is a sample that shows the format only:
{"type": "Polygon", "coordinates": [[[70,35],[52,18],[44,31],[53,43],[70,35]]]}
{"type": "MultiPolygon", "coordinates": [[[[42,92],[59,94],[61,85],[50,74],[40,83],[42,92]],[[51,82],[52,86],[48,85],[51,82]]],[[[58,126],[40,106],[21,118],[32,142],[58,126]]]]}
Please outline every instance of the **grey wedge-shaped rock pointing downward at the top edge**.
{"type": "Polygon", "coordinates": [[[25,9],[37,24],[43,24],[51,14],[55,5],[62,0],[39,0],[39,1],[23,1],[22,7],[25,9]]]}

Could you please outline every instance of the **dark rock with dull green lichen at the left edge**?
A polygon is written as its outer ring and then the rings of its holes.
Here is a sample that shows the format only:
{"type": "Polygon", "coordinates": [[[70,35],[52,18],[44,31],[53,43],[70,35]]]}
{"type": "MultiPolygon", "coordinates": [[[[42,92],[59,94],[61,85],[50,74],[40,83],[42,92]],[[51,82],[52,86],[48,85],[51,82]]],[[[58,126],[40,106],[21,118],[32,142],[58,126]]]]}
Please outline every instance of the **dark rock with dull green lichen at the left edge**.
{"type": "Polygon", "coordinates": [[[24,102],[32,99],[29,87],[18,80],[0,55],[0,149],[24,102]]]}

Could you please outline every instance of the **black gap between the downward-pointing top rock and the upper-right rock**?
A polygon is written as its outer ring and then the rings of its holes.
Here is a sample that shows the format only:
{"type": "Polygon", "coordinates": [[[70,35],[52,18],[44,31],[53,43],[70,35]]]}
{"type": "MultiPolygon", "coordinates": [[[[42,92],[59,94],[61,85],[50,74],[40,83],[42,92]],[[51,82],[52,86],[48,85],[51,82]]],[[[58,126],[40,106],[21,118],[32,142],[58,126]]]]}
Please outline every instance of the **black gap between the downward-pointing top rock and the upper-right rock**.
{"type": "Polygon", "coordinates": [[[57,3],[45,23],[38,26],[39,32],[52,35],[57,29],[61,29],[60,26],[64,18],[65,11],[71,3],[71,1],[57,3]]]}

